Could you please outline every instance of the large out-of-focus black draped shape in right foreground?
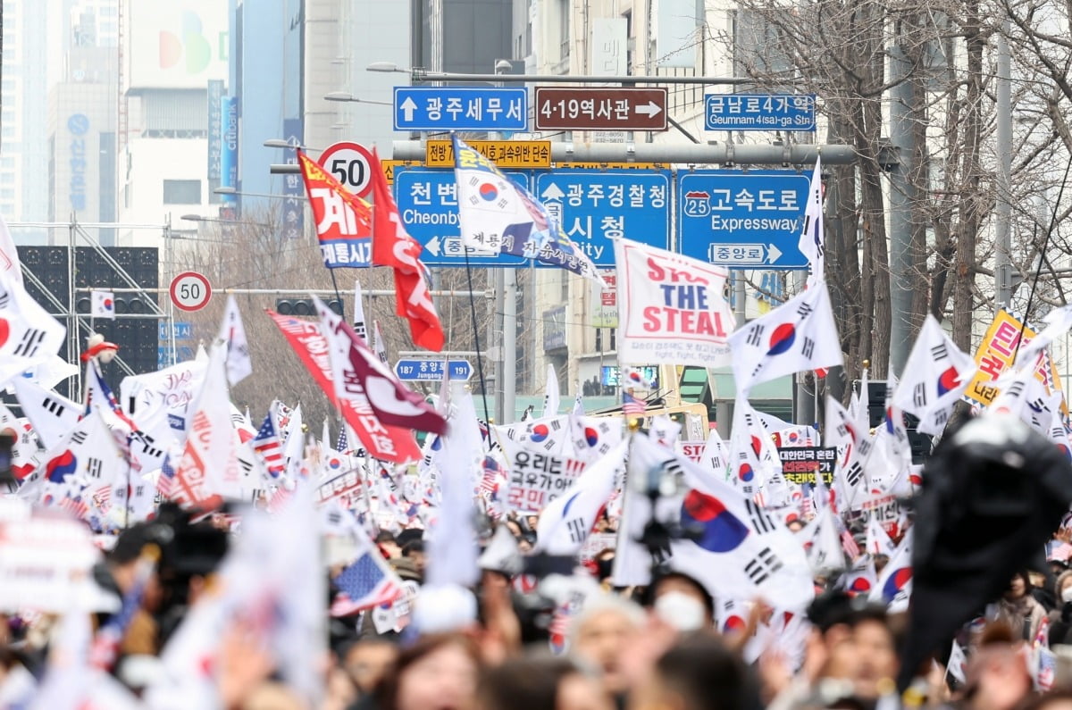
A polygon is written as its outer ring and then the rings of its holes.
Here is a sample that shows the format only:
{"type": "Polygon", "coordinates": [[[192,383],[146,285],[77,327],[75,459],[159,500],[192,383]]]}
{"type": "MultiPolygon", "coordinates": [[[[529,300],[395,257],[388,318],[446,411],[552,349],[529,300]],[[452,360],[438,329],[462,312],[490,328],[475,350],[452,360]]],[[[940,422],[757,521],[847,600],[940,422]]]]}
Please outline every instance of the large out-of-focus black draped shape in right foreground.
{"type": "Polygon", "coordinates": [[[912,601],[897,686],[1041,553],[1072,500],[1072,464],[1017,416],[984,414],[943,439],[914,501],[912,601]]]}

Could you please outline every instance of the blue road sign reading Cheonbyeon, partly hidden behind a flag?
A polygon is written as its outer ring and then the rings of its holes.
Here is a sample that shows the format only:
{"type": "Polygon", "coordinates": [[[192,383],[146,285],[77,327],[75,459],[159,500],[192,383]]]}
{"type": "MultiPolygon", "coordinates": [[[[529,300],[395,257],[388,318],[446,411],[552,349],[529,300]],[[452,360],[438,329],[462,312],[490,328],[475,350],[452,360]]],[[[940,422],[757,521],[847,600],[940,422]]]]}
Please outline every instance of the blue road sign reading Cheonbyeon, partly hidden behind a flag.
{"type": "MultiPolygon", "coordinates": [[[[507,173],[525,188],[528,176],[507,173]]],[[[465,266],[458,224],[458,190],[449,168],[398,167],[394,171],[394,202],[405,228],[420,242],[425,266],[465,266]]],[[[470,266],[525,266],[527,261],[510,254],[489,254],[470,249],[470,266]]]]}

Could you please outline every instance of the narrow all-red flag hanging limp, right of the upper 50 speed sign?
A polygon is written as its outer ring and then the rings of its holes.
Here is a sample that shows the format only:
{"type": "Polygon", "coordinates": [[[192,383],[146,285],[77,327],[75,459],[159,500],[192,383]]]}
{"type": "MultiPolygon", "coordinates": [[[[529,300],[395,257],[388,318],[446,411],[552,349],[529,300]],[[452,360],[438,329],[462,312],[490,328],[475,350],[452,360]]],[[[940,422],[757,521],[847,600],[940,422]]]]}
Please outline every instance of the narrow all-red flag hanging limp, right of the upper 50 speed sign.
{"type": "Polygon", "coordinates": [[[425,279],[425,265],[418,258],[423,247],[402,224],[375,148],[369,169],[372,171],[372,195],[376,203],[372,217],[372,263],[394,269],[396,313],[410,322],[414,343],[438,352],[443,350],[443,326],[425,279]]]}

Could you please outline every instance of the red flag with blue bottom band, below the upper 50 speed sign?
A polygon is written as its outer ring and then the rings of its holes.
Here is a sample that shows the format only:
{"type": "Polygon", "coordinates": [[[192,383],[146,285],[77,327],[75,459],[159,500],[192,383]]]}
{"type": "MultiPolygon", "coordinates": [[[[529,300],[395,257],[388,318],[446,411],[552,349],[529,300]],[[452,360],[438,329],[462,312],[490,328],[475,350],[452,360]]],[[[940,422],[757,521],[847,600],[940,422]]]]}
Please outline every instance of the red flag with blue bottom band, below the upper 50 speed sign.
{"type": "Polygon", "coordinates": [[[324,266],[369,266],[372,245],[372,209],[344,188],[334,176],[298,151],[301,178],[316,221],[324,266]]]}

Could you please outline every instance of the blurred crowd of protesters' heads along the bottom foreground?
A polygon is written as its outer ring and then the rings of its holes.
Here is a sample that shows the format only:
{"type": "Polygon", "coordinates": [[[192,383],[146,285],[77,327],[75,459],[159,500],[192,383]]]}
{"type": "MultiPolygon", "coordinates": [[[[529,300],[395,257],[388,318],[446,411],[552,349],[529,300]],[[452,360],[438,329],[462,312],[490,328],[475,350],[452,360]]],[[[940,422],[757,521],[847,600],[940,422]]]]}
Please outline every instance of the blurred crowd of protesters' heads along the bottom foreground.
{"type": "MultiPolygon", "coordinates": [[[[517,543],[531,546],[534,522],[511,517],[498,524],[517,543]]],[[[123,531],[94,570],[100,589],[121,598],[137,583],[146,549],[160,552],[110,666],[135,695],[164,672],[162,650],[211,588],[234,534],[227,527],[226,517],[191,522],[190,515],[166,507],[155,520],[123,531]]],[[[602,521],[602,530],[611,527],[602,521]]],[[[1061,537],[1067,539],[1068,531],[1061,537]]],[[[422,581],[422,531],[381,532],[375,544],[400,578],[422,581]]],[[[1006,594],[958,636],[965,656],[951,660],[947,651],[934,657],[902,694],[894,678],[904,613],[890,613],[865,595],[817,579],[802,655],[793,659],[775,642],[756,657],[749,644],[773,612],[765,601],[750,605],[743,624],[719,628],[712,590],[666,570],[644,588],[615,588],[613,554],[612,548],[597,550],[578,567],[576,575],[598,586],[566,618],[541,597],[538,580],[526,585],[527,578],[495,568],[482,570],[473,590],[475,619],[455,615],[430,624],[431,631],[411,623],[398,633],[376,633],[370,610],[332,618],[317,710],[1072,707],[1072,647],[1062,653],[1062,646],[1072,644],[1072,571],[1060,560],[1018,572],[1006,594]],[[1057,656],[1044,694],[1030,665],[1040,630],[1057,656]],[[951,663],[959,667],[950,668],[951,663]]],[[[413,617],[419,616],[415,610],[413,617]]],[[[100,630],[109,618],[98,613],[92,624],[100,630]]],[[[55,622],[45,616],[3,618],[0,707],[24,707],[17,701],[19,689],[44,672],[55,652],[55,622]]],[[[217,640],[219,707],[312,710],[281,681],[273,656],[251,638],[236,622],[217,640]]]]}

